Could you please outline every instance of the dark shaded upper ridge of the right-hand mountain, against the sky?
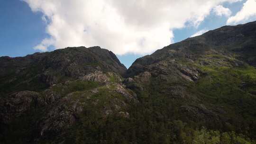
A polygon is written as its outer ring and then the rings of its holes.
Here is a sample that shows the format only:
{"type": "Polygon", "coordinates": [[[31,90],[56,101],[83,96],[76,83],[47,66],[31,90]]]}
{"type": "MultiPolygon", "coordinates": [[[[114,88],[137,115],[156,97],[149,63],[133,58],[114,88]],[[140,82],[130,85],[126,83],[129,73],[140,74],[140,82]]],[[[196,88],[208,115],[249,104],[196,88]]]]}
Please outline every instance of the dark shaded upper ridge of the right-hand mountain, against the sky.
{"type": "Polygon", "coordinates": [[[137,59],[128,69],[127,76],[136,75],[146,66],[162,60],[171,58],[197,60],[202,55],[209,53],[236,54],[236,59],[255,66],[255,41],[256,22],[220,27],[201,36],[166,46],[151,55],[137,59]]]}

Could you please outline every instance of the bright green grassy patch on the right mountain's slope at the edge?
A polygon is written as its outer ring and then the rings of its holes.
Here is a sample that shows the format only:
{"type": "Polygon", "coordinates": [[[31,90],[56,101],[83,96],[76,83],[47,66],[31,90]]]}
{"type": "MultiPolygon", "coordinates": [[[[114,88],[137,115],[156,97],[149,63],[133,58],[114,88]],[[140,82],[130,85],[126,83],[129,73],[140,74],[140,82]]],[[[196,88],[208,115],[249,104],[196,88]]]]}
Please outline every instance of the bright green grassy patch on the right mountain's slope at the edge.
{"type": "Polygon", "coordinates": [[[207,75],[201,77],[193,88],[202,94],[202,100],[226,109],[226,116],[236,113],[236,116],[253,119],[256,97],[249,92],[256,90],[255,68],[201,67],[201,70],[207,75]]]}

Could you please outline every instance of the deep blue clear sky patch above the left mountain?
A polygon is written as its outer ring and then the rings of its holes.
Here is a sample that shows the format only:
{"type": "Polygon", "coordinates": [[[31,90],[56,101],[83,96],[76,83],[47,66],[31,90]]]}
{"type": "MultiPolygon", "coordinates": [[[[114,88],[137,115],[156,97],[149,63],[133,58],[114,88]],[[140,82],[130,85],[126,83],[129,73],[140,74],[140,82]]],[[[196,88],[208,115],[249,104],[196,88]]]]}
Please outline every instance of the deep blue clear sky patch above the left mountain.
{"type": "Polygon", "coordinates": [[[0,56],[39,52],[33,47],[47,36],[41,13],[33,13],[26,2],[2,0],[0,14],[0,56]]]}

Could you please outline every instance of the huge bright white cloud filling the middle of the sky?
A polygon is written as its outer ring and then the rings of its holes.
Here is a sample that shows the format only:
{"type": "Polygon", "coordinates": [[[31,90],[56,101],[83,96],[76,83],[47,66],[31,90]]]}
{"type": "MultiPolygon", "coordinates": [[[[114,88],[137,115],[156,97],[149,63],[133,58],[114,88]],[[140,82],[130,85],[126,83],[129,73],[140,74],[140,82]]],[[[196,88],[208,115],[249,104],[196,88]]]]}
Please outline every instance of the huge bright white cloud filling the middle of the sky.
{"type": "Polygon", "coordinates": [[[116,54],[148,54],[173,42],[173,29],[198,26],[223,2],[239,0],[23,0],[44,14],[50,45],[100,45],[116,54]]]}

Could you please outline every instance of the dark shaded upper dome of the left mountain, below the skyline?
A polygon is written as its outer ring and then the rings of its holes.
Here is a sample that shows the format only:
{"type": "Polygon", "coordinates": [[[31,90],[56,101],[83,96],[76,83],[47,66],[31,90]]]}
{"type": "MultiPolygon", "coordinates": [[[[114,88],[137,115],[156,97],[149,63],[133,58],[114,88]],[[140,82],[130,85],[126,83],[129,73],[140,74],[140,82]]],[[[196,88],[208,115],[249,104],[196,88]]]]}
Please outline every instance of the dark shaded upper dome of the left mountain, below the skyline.
{"type": "Polygon", "coordinates": [[[0,58],[0,91],[43,90],[63,78],[95,71],[122,75],[126,67],[115,54],[100,47],[73,47],[25,57],[0,58]]]}

